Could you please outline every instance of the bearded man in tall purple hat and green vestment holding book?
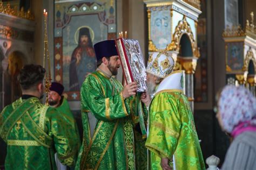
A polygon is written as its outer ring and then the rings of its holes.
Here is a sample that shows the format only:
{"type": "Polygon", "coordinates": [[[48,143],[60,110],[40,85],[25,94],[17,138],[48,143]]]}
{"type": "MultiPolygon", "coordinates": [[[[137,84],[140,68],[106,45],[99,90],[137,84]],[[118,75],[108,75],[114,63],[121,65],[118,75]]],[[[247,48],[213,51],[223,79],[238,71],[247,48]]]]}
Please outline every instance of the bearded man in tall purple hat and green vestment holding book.
{"type": "Polygon", "coordinates": [[[94,47],[98,68],[80,90],[84,134],[76,169],[136,169],[132,101],[137,84],[123,87],[113,77],[120,67],[114,40],[94,47]]]}

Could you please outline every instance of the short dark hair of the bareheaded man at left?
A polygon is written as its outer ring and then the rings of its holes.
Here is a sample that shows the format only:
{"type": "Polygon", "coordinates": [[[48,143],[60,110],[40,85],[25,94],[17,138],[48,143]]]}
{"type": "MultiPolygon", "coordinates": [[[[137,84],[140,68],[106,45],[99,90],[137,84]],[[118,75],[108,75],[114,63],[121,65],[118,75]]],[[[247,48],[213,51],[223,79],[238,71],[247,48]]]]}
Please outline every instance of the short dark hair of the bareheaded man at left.
{"type": "Polygon", "coordinates": [[[44,80],[45,69],[40,65],[25,65],[18,75],[22,90],[35,88],[44,80]]]}

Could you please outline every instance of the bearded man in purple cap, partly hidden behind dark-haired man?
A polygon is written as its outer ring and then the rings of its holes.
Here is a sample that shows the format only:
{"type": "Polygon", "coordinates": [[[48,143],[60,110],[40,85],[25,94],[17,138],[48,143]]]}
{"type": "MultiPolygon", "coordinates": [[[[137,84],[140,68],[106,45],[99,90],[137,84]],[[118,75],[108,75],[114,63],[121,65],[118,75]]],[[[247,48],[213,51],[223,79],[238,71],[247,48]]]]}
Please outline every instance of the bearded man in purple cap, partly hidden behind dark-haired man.
{"type": "MultiPolygon", "coordinates": [[[[49,104],[51,107],[56,108],[61,116],[65,119],[66,123],[70,124],[72,128],[68,129],[74,141],[76,141],[76,146],[73,152],[77,154],[80,148],[80,137],[78,132],[78,127],[76,120],[70,110],[69,103],[66,98],[62,95],[64,91],[64,86],[58,82],[52,82],[49,92],[49,104]]],[[[58,169],[66,169],[66,166],[62,165],[59,160],[56,161],[58,169]]]]}

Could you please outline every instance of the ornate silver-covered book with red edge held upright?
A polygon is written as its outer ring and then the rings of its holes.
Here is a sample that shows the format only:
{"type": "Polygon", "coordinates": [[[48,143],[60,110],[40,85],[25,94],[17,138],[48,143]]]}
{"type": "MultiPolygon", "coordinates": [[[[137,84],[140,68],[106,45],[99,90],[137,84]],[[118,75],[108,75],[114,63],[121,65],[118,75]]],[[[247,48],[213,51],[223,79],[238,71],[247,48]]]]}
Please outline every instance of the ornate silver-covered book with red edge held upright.
{"type": "Polygon", "coordinates": [[[116,40],[126,83],[137,82],[137,92],[146,91],[146,67],[138,40],[119,38],[116,40]]]}

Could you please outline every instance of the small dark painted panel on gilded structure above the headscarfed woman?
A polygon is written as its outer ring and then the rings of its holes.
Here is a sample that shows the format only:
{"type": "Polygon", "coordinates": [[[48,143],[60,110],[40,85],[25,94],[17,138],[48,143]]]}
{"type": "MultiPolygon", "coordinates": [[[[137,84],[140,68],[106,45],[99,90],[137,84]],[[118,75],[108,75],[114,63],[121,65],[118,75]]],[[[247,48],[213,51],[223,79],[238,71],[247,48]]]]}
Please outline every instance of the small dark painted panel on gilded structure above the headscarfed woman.
{"type": "Polygon", "coordinates": [[[244,42],[230,42],[227,44],[227,65],[232,71],[241,70],[244,65],[244,42]]]}

